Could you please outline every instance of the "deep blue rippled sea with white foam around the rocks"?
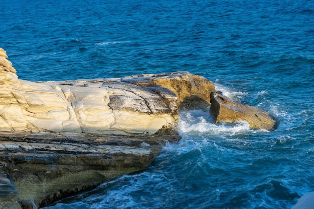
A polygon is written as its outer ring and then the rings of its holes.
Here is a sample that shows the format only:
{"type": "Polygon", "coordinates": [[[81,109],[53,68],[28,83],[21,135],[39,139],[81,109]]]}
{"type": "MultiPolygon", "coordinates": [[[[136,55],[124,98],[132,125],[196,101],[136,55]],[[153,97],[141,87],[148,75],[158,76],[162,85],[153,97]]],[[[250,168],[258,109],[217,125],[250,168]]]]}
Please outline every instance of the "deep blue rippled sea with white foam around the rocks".
{"type": "Polygon", "coordinates": [[[314,1],[1,0],[20,79],[189,71],[268,111],[273,132],[180,113],[150,167],[46,209],[291,208],[314,191],[314,1]]]}

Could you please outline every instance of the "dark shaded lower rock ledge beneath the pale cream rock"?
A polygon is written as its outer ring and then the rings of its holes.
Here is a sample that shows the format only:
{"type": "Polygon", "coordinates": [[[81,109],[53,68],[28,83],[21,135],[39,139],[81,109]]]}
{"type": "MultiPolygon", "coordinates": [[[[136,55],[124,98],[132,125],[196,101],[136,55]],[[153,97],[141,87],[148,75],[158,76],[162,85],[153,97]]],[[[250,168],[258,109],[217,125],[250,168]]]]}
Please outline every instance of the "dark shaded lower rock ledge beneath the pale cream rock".
{"type": "Polygon", "coordinates": [[[131,137],[27,132],[0,135],[3,170],[0,208],[1,203],[16,204],[12,208],[19,208],[18,201],[24,205],[47,206],[113,177],[142,170],[162,145],[180,140],[178,135],[131,137]]]}

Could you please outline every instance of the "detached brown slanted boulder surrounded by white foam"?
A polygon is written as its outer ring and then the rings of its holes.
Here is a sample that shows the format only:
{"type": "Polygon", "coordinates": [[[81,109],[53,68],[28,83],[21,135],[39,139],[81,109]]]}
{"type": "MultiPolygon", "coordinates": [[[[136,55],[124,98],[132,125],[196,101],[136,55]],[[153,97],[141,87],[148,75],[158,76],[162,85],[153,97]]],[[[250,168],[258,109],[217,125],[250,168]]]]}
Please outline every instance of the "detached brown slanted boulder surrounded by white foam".
{"type": "Polygon", "coordinates": [[[210,112],[215,123],[237,121],[247,121],[252,129],[265,129],[272,131],[275,129],[276,121],[269,113],[256,107],[243,105],[231,99],[212,92],[210,112]]]}

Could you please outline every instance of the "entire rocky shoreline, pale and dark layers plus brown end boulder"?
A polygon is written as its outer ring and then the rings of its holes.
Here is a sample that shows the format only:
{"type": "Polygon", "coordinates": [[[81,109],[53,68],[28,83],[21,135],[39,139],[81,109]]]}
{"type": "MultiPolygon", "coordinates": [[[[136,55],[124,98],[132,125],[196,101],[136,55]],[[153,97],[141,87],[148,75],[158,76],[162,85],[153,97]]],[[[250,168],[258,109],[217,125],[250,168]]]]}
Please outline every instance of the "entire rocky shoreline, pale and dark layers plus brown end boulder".
{"type": "Polygon", "coordinates": [[[113,79],[18,79],[0,48],[0,209],[44,207],[150,165],[180,140],[180,110],[272,131],[264,110],[231,101],[189,72],[113,79]]]}

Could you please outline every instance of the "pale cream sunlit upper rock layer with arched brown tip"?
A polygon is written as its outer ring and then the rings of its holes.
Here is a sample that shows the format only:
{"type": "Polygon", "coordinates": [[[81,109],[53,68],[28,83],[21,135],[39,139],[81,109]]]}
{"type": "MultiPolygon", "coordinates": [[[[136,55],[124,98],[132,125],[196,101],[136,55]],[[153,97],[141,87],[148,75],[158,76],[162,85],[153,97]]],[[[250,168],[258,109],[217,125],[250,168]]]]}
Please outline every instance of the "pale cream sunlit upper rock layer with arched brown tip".
{"type": "Polygon", "coordinates": [[[188,72],[119,79],[18,79],[0,48],[0,131],[154,134],[176,129],[178,106],[210,103],[214,84],[188,72]]]}

